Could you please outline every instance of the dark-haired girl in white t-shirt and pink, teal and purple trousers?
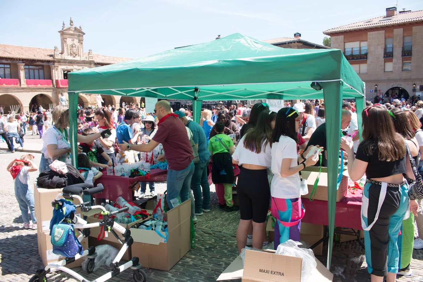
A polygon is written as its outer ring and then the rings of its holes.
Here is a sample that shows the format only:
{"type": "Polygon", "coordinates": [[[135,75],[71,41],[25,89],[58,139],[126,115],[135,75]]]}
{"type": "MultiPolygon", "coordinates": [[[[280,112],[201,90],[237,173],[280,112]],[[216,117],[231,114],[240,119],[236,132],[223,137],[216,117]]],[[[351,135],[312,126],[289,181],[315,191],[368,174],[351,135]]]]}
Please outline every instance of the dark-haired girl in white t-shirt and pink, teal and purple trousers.
{"type": "MultiPolygon", "coordinates": [[[[297,110],[285,107],[277,112],[272,132],[272,173],[270,185],[272,216],[275,224],[275,249],[288,239],[299,241],[304,209],[301,205],[299,171],[316,164],[319,157],[305,161],[297,155],[297,132],[300,119],[297,110]]],[[[310,147],[311,148],[311,147],[310,147]]],[[[307,155],[310,148],[305,152],[307,155]]]]}

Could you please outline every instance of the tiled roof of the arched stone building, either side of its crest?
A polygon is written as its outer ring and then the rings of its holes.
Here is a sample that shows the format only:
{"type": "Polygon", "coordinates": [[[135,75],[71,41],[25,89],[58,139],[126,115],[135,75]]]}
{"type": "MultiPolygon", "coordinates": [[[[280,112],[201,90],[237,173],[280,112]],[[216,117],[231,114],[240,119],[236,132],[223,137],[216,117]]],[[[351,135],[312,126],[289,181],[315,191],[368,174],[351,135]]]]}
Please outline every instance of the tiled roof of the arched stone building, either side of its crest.
{"type": "MultiPolygon", "coordinates": [[[[0,58],[54,61],[55,59],[53,58],[53,54],[54,49],[0,44],[0,58]]],[[[84,57],[88,58],[88,52],[84,52],[84,57]]],[[[112,57],[99,54],[93,54],[93,59],[95,63],[106,64],[121,63],[131,60],[130,58],[112,57]]]]}

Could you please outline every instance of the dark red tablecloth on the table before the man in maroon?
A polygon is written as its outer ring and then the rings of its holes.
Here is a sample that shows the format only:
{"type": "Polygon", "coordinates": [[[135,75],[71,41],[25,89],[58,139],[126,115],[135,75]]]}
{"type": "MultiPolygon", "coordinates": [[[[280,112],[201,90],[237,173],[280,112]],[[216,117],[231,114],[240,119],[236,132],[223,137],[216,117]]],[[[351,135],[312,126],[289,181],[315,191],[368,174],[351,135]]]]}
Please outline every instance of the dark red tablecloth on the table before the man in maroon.
{"type": "Polygon", "coordinates": [[[121,196],[125,200],[132,202],[132,185],[136,182],[162,182],[166,181],[168,176],[168,170],[154,169],[150,172],[150,178],[146,176],[137,177],[124,177],[116,175],[107,175],[107,172],[103,172],[103,176],[96,180],[94,183],[102,183],[104,190],[102,193],[93,194],[96,198],[103,198],[109,200],[115,200],[121,196]]]}

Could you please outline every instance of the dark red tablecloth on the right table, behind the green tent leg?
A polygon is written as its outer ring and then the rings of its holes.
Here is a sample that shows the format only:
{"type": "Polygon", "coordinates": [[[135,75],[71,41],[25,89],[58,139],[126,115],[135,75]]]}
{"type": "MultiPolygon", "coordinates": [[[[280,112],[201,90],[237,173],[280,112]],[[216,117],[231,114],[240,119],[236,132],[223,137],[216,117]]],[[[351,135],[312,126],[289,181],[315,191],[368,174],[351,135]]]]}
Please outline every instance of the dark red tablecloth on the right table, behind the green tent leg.
{"type": "MultiPolygon", "coordinates": [[[[335,226],[354,228],[362,230],[360,220],[362,190],[355,190],[355,194],[348,192],[341,202],[336,203],[335,226]]],[[[327,201],[302,198],[302,205],[305,208],[302,222],[328,225],[327,221],[327,201]]]]}

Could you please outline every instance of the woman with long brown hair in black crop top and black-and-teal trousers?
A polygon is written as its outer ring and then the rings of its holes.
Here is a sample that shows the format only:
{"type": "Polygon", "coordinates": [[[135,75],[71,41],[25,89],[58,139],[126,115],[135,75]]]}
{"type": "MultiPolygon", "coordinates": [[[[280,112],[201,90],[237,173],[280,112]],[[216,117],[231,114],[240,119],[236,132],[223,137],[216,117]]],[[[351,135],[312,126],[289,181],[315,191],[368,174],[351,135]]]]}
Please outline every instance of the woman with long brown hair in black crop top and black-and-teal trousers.
{"type": "Polygon", "coordinates": [[[361,222],[365,255],[372,282],[394,282],[398,272],[398,233],[408,209],[405,141],[395,132],[391,115],[380,104],[362,112],[363,141],[354,155],[353,143],[341,138],[348,153],[348,173],[352,181],[366,174],[361,222]],[[388,251],[389,250],[389,251],[388,251]]]}

